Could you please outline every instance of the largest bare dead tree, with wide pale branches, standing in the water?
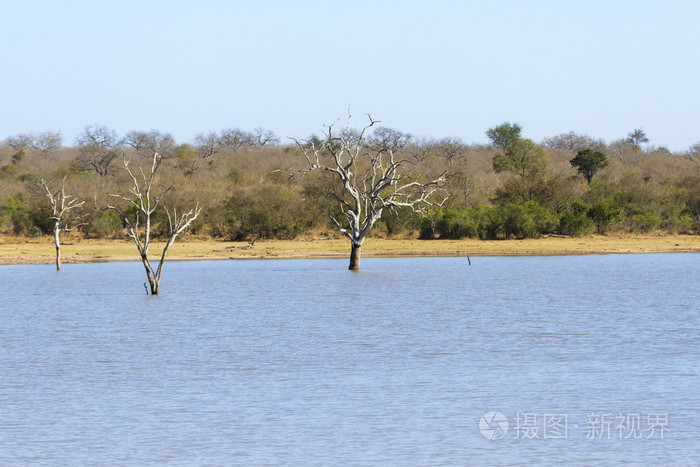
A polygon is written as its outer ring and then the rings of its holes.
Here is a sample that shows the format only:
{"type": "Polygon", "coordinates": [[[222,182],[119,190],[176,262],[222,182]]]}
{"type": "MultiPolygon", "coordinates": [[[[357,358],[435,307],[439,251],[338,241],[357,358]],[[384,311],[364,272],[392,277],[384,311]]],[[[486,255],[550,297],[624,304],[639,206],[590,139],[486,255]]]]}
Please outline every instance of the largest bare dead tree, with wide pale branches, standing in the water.
{"type": "MultiPolygon", "coordinates": [[[[325,139],[295,140],[306,158],[309,168],[304,172],[324,170],[332,173],[342,185],[333,190],[345,220],[331,216],[338,231],[351,242],[349,269],[360,269],[360,256],[365,237],[379,220],[384,209],[396,212],[396,208],[408,207],[414,212],[442,205],[431,199],[444,193],[442,186],[446,174],[431,181],[423,181],[422,175],[413,175],[407,170],[408,160],[397,155],[396,144],[376,144],[377,139],[367,140],[368,130],[379,123],[369,117],[369,124],[359,133],[348,124],[339,135],[334,134],[334,125],[327,126],[325,139]]],[[[388,141],[388,140],[387,140],[388,141]]]]}

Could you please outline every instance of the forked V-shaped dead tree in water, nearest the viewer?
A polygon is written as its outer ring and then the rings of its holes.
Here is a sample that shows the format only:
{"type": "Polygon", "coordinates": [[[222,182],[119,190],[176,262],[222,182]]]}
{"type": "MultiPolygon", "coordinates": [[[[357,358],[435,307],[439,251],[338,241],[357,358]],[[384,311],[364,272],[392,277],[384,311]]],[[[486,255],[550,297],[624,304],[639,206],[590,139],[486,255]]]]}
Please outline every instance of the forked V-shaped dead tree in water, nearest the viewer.
{"type": "Polygon", "coordinates": [[[141,262],[143,262],[143,266],[146,269],[146,276],[152,295],[158,295],[161,273],[163,272],[163,263],[165,262],[165,255],[168,252],[168,248],[175,242],[177,236],[185,231],[202,211],[202,208],[197,204],[193,209],[178,215],[176,209],[173,209],[171,214],[170,210],[163,206],[168,216],[169,236],[160,255],[158,266],[153,267],[148,258],[148,248],[151,244],[151,217],[161,205],[160,201],[163,196],[170,191],[170,188],[166,188],[160,195],[153,199],[153,182],[161,162],[162,157],[156,152],[153,155],[153,163],[151,164],[150,172],[144,172],[143,168],[139,167],[138,175],[140,176],[137,176],[134,175],[134,172],[129,167],[129,160],[126,157],[126,153],[122,152],[124,170],[133,183],[130,190],[131,197],[119,194],[111,194],[110,196],[125,201],[127,206],[136,208],[136,217],[134,219],[129,216],[127,210],[120,206],[108,204],[104,208],[115,211],[126,226],[126,234],[134,241],[136,249],[141,256],[141,262]],[[143,225],[141,222],[143,222],[143,225]]]}

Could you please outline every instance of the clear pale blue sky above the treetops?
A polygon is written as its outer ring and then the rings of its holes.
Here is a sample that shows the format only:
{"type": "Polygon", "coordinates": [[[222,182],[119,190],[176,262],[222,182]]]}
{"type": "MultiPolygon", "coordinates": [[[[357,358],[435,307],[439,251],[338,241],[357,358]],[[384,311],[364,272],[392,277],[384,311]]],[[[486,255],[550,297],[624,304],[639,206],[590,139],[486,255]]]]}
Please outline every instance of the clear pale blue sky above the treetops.
{"type": "Polygon", "coordinates": [[[700,141],[700,1],[2,2],[0,139],[88,124],[123,135],[264,127],[320,133],[365,113],[486,142],[700,141]]]}

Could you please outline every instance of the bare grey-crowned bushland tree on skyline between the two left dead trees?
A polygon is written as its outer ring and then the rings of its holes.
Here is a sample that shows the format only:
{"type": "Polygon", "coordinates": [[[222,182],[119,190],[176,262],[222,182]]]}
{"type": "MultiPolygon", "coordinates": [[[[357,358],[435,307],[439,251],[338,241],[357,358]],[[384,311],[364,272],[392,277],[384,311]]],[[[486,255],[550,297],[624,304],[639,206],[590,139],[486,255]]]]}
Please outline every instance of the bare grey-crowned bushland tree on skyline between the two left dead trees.
{"type": "Polygon", "coordinates": [[[88,126],[76,138],[78,157],[76,162],[83,171],[95,171],[104,178],[118,155],[117,134],[105,126],[88,126]]]}

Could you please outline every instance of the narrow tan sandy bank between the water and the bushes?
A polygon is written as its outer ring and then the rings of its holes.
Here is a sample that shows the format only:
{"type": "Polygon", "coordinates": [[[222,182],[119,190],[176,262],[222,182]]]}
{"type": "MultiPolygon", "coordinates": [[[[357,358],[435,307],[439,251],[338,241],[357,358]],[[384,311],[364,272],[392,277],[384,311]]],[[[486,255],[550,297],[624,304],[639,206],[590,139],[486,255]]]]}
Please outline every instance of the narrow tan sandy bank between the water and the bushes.
{"type": "MultiPolygon", "coordinates": [[[[162,243],[153,243],[150,256],[159,255],[162,243]]],[[[350,245],[345,239],[259,240],[252,248],[246,242],[183,239],[168,251],[168,260],[344,258],[350,245]]],[[[523,256],[615,253],[700,253],[700,236],[592,236],[527,240],[415,240],[370,238],[363,257],[379,256],[523,256]]],[[[61,249],[63,262],[138,261],[136,248],[126,240],[66,238],[61,249]]],[[[51,238],[20,241],[0,238],[0,265],[51,264],[55,250],[51,238]]]]}

